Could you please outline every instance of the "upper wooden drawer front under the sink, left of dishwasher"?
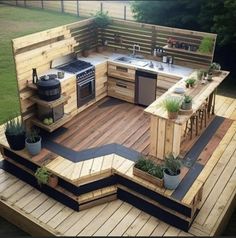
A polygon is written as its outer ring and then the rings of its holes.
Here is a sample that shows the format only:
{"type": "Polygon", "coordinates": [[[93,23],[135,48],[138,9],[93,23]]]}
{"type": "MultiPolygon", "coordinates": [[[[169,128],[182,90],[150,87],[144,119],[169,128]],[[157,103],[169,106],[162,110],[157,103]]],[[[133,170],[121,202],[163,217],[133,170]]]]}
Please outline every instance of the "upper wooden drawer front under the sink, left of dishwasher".
{"type": "Polygon", "coordinates": [[[135,68],[116,63],[108,63],[108,76],[135,82],[135,68]]]}

